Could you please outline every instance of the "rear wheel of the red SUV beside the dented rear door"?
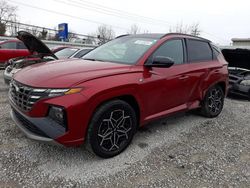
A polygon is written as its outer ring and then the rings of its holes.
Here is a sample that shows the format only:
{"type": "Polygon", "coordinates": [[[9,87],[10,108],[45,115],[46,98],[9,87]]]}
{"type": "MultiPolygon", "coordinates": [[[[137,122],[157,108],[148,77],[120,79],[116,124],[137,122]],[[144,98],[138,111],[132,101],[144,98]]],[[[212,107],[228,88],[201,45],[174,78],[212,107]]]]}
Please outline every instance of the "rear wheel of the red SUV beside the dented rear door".
{"type": "Polygon", "coordinates": [[[200,113],[209,118],[217,117],[223,109],[224,98],[225,94],[219,85],[209,88],[201,102],[200,113]]]}

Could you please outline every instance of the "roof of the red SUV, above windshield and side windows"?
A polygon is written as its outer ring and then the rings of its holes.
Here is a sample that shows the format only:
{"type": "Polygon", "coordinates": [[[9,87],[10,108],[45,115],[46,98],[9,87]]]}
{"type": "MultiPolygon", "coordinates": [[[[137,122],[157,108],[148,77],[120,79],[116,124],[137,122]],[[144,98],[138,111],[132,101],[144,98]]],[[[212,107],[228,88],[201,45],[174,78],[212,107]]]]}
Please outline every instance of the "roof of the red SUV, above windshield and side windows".
{"type": "Polygon", "coordinates": [[[204,40],[204,41],[207,41],[207,42],[211,42],[210,40],[202,38],[202,37],[189,35],[189,34],[183,34],[183,33],[144,33],[144,34],[132,34],[132,35],[126,34],[126,35],[120,35],[120,36],[118,36],[116,38],[120,38],[120,37],[124,37],[124,36],[130,36],[130,37],[161,39],[161,38],[164,38],[166,36],[171,36],[171,35],[178,35],[180,37],[193,38],[193,39],[198,39],[198,40],[204,40]]]}

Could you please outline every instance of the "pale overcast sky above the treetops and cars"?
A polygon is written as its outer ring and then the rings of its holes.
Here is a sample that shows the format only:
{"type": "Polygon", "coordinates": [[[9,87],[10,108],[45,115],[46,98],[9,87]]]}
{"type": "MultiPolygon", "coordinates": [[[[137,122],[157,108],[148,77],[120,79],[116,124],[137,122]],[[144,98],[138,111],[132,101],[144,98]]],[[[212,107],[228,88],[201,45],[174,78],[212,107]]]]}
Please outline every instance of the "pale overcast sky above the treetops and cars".
{"type": "Polygon", "coordinates": [[[101,24],[116,35],[132,24],[140,30],[167,33],[177,24],[199,23],[201,36],[221,45],[231,38],[250,38],[250,1],[247,0],[8,0],[18,7],[20,22],[54,28],[68,23],[76,33],[90,34],[101,24]]]}

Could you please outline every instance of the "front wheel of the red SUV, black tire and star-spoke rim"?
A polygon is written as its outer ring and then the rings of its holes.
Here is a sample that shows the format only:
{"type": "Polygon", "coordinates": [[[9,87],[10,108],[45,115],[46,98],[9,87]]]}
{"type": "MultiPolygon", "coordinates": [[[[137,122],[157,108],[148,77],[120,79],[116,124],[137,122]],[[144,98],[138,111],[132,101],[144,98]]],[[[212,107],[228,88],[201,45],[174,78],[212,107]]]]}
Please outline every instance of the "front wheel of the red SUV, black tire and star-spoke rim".
{"type": "Polygon", "coordinates": [[[122,100],[106,102],[92,117],[88,130],[88,144],[100,157],[116,156],[132,141],[136,124],[136,113],[128,103],[122,100]]]}

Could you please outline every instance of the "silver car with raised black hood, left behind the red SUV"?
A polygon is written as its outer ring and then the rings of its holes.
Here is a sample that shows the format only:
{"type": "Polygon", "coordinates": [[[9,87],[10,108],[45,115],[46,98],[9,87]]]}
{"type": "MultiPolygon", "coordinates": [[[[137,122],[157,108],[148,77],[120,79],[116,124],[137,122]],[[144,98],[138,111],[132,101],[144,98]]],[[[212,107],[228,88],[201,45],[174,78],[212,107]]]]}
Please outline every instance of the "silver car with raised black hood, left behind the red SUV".
{"type": "Polygon", "coordinates": [[[33,55],[13,58],[6,62],[4,71],[6,84],[9,84],[14,74],[26,66],[57,59],[80,58],[92,50],[90,47],[78,48],[71,46],[60,46],[50,50],[41,40],[25,31],[18,32],[17,38],[27,46],[27,49],[33,55]]]}

